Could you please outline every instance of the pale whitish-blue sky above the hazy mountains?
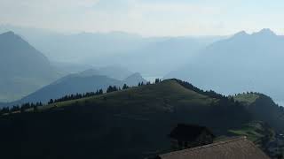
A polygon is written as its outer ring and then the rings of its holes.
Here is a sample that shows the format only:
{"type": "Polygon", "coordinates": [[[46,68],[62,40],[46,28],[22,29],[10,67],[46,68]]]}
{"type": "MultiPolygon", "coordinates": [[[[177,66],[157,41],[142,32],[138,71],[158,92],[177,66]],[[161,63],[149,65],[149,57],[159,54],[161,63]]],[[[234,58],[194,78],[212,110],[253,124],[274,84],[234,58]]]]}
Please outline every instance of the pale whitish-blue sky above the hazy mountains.
{"type": "Polygon", "coordinates": [[[145,36],[284,34],[283,0],[0,0],[0,25],[145,36]]]}

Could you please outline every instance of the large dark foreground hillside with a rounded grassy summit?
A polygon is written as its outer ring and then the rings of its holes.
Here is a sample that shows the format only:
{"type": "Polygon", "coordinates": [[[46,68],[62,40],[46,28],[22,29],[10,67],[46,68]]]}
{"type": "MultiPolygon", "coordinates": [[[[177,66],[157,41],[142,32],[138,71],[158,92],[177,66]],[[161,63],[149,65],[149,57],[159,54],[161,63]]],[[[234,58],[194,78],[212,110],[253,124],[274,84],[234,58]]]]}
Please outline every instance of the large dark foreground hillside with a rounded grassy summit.
{"type": "Polygon", "coordinates": [[[178,123],[225,135],[250,120],[239,102],[169,79],[0,117],[1,158],[139,159],[169,151],[178,123]]]}

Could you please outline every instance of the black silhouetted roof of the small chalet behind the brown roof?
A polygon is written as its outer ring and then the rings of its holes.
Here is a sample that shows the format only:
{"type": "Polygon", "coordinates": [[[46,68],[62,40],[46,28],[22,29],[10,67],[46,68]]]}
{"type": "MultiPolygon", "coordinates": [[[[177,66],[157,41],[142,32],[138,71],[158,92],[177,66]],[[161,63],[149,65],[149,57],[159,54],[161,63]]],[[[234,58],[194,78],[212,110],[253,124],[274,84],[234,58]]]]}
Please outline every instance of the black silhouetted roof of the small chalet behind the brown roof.
{"type": "Polygon", "coordinates": [[[179,124],[170,133],[170,138],[176,140],[195,140],[202,132],[206,132],[214,136],[208,128],[199,125],[179,124]]]}

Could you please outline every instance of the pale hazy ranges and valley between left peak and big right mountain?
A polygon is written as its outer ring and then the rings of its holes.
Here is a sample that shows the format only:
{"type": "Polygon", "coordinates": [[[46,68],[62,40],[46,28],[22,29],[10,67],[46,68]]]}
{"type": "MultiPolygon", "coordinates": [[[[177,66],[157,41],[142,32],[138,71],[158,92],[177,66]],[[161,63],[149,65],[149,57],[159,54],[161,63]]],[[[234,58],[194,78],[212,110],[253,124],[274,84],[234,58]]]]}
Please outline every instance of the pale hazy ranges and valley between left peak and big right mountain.
{"type": "Polygon", "coordinates": [[[59,34],[43,29],[0,26],[0,33],[5,30],[25,37],[51,61],[95,68],[115,64],[149,76],[163,76],[177,69],[200,49],[225,38],[142,37],[123,32],[59,34]]]}

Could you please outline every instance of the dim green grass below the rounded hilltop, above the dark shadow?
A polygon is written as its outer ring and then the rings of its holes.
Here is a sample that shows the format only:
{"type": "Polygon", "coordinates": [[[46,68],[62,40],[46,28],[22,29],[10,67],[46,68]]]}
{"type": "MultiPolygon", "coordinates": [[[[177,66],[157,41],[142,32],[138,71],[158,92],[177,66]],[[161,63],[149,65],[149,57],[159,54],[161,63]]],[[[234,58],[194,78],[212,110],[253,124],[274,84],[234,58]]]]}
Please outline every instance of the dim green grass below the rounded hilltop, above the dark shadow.
{"type": "MultiPolygon", "coordinates": [[[[208,96],[197,94],[185,87],[180,86],[174,80],[165,80],[157,85],[132,87],[127,90],[117,91],[105,95],[99,95],[79,100],[55,103],[58,107],[68,106],[74,102],[92,102],[94,104],[113,105],[133,105],[139,108],[141,104],[143,109],[151,107],[153,109],[169,110],[171,104],[175,105],[209,105],[210,102],[216,101],[208,96]],[[163,103],[163,107],[161,107],[163,103]]],[[[54,104],[52,104],[54,105],[54,104]]]]}

